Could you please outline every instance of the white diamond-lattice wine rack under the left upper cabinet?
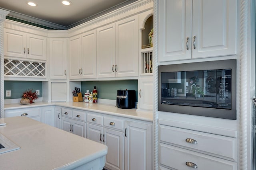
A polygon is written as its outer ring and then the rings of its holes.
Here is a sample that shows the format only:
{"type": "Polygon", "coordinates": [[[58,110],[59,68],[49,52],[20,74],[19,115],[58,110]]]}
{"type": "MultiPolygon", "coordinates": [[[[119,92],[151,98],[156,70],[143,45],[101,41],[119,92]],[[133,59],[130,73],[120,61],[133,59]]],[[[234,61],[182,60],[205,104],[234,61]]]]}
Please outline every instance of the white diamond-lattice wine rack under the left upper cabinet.
{"type": "Polygon", "coordinates": [[[45,63],[4,59],[4,76],[45,77],[45,63]]]}

